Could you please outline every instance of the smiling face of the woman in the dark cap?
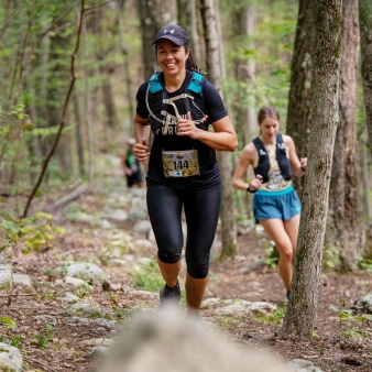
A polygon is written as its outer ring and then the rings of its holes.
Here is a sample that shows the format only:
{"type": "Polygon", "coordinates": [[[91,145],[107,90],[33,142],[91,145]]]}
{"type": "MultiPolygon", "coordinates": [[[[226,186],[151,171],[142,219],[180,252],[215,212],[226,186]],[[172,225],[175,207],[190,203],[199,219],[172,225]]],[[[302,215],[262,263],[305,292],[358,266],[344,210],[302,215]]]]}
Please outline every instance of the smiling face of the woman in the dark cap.
{"type": "Polygon", "coordinates": [[[157,63],[166,75],[177,75],[179,72],[185,70],[186,53],[183,45],[176,45],[169,40],[160,40],[156,44],[157,63]]]}

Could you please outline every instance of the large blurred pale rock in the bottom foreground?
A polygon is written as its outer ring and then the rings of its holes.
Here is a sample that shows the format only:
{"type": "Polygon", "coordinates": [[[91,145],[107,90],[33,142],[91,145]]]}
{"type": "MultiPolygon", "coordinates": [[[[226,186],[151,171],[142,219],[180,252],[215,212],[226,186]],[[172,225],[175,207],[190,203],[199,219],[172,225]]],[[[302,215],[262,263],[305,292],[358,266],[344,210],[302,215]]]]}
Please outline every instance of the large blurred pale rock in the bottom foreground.
{"type": "Polygon", "coordinates": [[[173,307],[129,325],[108,351],[99,372],[285,372],[266,351],[240,347],[186,318],[173,307]]]}

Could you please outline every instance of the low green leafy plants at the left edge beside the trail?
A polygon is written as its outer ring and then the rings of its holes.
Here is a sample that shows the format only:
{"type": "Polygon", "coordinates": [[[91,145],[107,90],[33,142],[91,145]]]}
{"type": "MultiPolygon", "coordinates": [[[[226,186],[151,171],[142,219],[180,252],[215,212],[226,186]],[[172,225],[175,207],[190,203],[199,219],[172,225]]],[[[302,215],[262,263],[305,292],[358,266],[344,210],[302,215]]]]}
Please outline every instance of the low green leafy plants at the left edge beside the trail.
{"type": "Polygon", "coordinates": [[[57,234],[65,233],[65,229],[52,226],[53,216],[39,212],[34,217],[21,220],[1,219],[0,252],[6,248],[19,248],[24,253],[45,250],[53,247],[57,234]]]}

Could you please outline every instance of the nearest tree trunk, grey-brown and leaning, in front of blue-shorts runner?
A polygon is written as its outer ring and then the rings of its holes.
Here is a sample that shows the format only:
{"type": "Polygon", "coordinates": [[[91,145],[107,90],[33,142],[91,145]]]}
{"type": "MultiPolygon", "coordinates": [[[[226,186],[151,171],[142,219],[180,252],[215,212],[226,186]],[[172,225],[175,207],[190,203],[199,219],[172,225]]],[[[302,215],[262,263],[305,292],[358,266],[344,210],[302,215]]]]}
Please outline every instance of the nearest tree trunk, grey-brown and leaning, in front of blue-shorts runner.
{"type": "Polygon", "coordinates": [[[338,123],[342,0],[317,0],[307,187],[282,336],[310,338],[318,305],[329,182],[338,123]]]}

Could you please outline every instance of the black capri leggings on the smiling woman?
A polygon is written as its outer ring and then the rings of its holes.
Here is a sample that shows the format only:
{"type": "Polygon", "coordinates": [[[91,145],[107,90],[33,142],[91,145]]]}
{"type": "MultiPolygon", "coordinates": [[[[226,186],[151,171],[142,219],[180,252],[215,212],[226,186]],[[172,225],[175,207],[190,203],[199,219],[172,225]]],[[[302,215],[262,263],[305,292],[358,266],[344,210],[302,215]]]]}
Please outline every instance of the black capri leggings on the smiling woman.
{"type": "Polygon", "coordinates": [[[160,261],[176,263],[180,260],[184,245],[180,215],[184,207],[187,273],[194,278],[206,277],[220,211],[221,186],[211,190],[185,192],[162,184],[149,184],[146,198],[160,261]]]}

